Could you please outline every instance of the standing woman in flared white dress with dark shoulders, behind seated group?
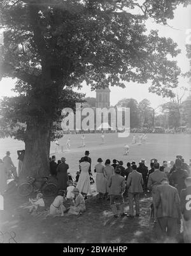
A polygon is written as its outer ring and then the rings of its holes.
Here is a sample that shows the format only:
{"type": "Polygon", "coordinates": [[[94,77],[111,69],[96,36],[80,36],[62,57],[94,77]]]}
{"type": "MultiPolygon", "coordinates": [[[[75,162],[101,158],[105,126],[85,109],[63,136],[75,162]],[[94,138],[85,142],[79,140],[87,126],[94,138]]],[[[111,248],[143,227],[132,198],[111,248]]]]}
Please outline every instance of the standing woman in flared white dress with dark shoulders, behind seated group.
{"type": "Polygon", "coordinates": [[[83,162],[80,163],[80,177],[78,179],[78,183],[76,185],[76,188],[78,188],[79,192],[85,195],[85,199],[87,199],[87,194],[91,192],[90,187],[90,163],[88,162],[88,157],[83,157],[83,162]]]}

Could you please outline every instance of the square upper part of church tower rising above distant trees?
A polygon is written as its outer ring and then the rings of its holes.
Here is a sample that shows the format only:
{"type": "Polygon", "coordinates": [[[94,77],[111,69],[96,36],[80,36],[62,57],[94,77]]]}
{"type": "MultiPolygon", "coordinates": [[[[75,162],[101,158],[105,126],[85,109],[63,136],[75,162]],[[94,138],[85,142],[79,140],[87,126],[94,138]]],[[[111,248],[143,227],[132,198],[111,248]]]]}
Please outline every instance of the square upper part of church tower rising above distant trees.
{"type": "Polygon", "coordinates": [[[96,102],[95,107],[110,107],[110,89],[106,87],[105,89],[97,89],[96,91],[96,102]]]}

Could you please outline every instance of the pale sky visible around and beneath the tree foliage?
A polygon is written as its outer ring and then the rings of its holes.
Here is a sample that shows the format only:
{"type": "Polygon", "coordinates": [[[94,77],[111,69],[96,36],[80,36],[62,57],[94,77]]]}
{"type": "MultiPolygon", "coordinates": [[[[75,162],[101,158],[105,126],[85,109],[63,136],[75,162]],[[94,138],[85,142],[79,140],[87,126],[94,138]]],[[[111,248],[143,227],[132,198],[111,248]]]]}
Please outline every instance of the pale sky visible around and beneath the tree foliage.
{"type": "MultiPolygon", "coordinates": [[[[146,22],[147,28],[150,29],[158,29],[160,36],[171,37],[176,43],[178,43],[179,49],[181,49],[181,54],[176,57],[178,61],[178,66],[180,66],[181,71],[183,73],[188,72],[190,68],[189,61],[186,57],[186,49],[185,44],[188,37],[187,30],[191,29],[191,6],[187,8],[183,8],[182,6],[178,6],[176,11],[174,12],[174,19],[169,20],[169,26],[157,25],[153,22],[153,20],[148,20],[146,22]]],[[[175,91],[178,93],[182,93],[180,87],[187,87],[189,89],[188,79],[180,78],[180,85],[175,91]]],[[[0,82],[0,96],[11,96],[14,93],[11,89],[14,87],[14,80],[11,79],[2,79],[0,82]]],[[[120,87],[111,87],[111,95],[110,102],[111,105],[115,105],[122,98],[135,98],[140,102],[143,98],[147,98],[152,103],[152,107],[157,107],[158,105],[166,102],[167,100],[162,98],[161,96],[157,96],[156,94],[148,92],[149,84],[136,84],[133,82],[127,83],[125,89],[120,87]]],[[[86,96],[95,97],[95,91],[91,91],[90,87],[83,84],[83,88],[81,89],[81,93],[86,93],[86,96]]],[[[186,95],[185,95],[186,96],[186,95]]]]}

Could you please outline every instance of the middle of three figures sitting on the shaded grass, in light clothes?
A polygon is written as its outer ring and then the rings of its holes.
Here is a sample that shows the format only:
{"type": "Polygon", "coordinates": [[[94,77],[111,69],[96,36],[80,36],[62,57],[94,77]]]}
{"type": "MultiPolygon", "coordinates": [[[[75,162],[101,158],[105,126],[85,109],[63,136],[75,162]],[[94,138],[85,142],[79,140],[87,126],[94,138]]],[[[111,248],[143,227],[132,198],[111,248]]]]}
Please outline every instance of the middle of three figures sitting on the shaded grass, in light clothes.
{"type": "Polygon", "coordinates": [[[64,206],[64,202],[66,202],[66,194],[64,190],[59,190],[57,193],[57,197],[53,200],[53,203],[50,206],[50,215],[53,216],[64,216],[64,211],[66,211],[66,207],[64,206]]]}

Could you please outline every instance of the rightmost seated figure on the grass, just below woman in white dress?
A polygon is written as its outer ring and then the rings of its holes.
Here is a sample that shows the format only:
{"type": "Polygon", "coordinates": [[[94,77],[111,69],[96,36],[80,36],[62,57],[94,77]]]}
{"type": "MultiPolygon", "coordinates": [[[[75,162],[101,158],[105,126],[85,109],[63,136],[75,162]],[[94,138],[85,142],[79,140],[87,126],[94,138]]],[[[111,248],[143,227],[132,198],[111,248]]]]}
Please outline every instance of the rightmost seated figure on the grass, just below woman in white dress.
{"type": "Polygon", "coordinates": [[[83,213],[83,211],[86,210],[85,200],[83,199],[83,195],[81,195],[78,188],[74,188],[73,194],[74,194],[74,198],[71,202],[71,206],[69,207],[68,214],[81,215],[81,213],[83,213]]]}

